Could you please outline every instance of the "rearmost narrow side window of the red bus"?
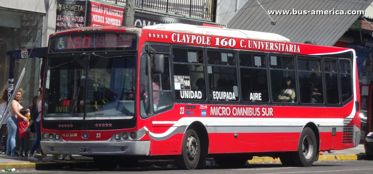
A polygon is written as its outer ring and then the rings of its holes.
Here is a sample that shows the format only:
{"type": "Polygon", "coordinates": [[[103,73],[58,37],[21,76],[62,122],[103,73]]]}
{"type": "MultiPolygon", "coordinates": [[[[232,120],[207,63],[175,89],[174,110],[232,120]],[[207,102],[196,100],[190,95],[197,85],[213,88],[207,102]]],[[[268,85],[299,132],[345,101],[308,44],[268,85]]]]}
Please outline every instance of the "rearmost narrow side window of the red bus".
{"type": "Polygon", "coordinates": [[[346,102],[352,97],[352,82],[350,62],[346,60],[339,60],[339,77],[341,86],[341,99],[346,102]]]}

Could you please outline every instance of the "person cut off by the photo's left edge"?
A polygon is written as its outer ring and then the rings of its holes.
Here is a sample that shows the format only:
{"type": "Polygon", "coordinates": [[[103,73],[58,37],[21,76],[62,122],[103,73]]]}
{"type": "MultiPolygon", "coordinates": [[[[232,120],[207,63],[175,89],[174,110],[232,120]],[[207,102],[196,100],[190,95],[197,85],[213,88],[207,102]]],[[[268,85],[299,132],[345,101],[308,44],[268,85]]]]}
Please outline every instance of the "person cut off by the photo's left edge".
{"type": "MultiPolygon", "coordinates": [[[[8,103],[8,89],[4,90],[2,97],[0,98],[0,119],[2,118],[2,114],[5,112],[6,105],[8,103]]],[[[7,134],[7,126],[6,126],[6,119],[2,122],[2,126],[0,129],[0,154],[5,154],[6,151],[6,139],[8,138],[7,134]]]]}

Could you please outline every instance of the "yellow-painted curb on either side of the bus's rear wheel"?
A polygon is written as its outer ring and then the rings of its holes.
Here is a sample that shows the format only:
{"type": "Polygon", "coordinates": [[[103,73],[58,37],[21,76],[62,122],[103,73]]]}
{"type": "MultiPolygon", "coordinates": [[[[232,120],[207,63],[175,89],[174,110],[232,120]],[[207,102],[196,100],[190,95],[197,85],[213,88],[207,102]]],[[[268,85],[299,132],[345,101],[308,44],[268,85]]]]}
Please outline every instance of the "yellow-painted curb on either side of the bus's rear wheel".
{"type": "MultiPolygon", "coordinates": [[[[317,161],[336,161],[336,160],[362,160],[365,157],[363,155],[320,155],[317,161]]],[[[249,163],[279,163],[280,158],[272,157],[253,157],[252,160],[248,160],[249,163]]]]}

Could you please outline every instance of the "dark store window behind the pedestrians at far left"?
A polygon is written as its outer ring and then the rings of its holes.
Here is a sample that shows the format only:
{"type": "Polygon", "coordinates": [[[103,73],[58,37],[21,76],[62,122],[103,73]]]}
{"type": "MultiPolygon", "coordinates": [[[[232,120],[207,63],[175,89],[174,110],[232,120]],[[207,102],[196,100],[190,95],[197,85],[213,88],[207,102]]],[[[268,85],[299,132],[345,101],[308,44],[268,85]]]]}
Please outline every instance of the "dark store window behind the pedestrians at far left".
{"type": "MultiPolygon", "coordinates": [[[[35,42],[39,26],[43,20],[42,15],[28,12],[0,10],[0,93],[8,87],[10,59],[6,52],[11,50],[24,50],[41,47],[42,34],[39,33],[35,42]]],[[[20,84],[25,92],[22,95],[22,105],[28,107],[32,98],[38,95],[40,81],[40,59],[32,58],[27,61],[26,73],[20,84]]],[[[26,59],[17,59],[14,63],[14,82],[26,63],[26,59]]]]}

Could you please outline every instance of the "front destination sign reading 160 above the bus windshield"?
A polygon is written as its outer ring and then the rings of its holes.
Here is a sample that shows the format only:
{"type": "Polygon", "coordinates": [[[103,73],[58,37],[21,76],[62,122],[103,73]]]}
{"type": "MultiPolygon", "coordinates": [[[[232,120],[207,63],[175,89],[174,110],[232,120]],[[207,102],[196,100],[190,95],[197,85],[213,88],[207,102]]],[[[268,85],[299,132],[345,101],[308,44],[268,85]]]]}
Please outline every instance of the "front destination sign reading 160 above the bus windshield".
{"type": "Polygon", "coordinates": [[[52,38],[50,43],[49,53],[136,50],[136,36],[129,34],[75,34],[52,38]]]}

